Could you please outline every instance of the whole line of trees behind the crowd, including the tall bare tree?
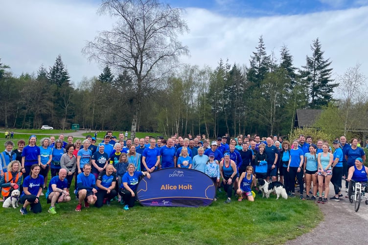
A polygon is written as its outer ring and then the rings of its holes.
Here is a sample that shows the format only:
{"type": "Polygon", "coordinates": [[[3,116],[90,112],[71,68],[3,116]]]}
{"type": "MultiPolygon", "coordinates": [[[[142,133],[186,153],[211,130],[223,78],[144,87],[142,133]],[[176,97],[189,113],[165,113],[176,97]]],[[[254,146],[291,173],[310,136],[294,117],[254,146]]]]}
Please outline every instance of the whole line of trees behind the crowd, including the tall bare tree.
{"type": "MultiPolygon", "coordinates": [[[[37,73],[19,77],[0,63],[0,126],[65,129],[79,123],[92,130],[131,129],[133,136],[136,130],[286,135],[297,109],[337,108],[346,132],[355,125],[350,119],[357,114],[356,103],[366,104],[353,98],[356,91],[333,98],[357,77],[344,74],[334,81],[332,61],[324,57],[318,38],[299,68],[286,45],[277,54],[268,52],[262,36],[249,66],[220,59],[215,69],[200,68],[178,62],[189,52],[177,40],[188,30],[181,9],[158,0],[103,0],[98,12],[115,18],[116,25],[87,42],[82,52],[103,65],[101,74],[86,74],[71,84],[61,55],[49,69],[41,65],[37,73]]],[[[358,84],[363,83],[364,76],[358,84]]]]}

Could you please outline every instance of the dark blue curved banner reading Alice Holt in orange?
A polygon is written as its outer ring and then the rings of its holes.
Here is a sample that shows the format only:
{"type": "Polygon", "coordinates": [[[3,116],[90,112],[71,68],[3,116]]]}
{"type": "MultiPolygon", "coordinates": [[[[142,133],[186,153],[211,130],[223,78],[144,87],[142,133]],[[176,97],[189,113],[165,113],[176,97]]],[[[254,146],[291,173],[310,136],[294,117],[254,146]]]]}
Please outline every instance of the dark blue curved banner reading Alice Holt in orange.
{"type": "Polygon", "coordinates": [[[143,177],[137,187],[143,206],[199,207],[212,203],[216,195],[213,181],[204,172],[168,168],[143,177]]]}

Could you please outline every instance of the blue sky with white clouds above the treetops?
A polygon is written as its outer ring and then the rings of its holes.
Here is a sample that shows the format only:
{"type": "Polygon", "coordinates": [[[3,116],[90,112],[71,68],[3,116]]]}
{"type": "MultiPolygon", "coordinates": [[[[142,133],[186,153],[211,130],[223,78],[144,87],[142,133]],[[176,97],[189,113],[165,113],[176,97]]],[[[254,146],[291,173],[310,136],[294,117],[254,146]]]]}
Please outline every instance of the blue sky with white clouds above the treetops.
{"type": "MultiPolygon", "coordinates": [[[[279,57],[286,45],[294,65],[305,65],[310,45],[319,38],[334,78],[361,63],[368,75],[368,0],[164,0],[184,9],[189,32],[179,37],[190,56],[181,62],[216,68],[220,59],[249,65],[262,35],[266,51],[279,57]]],[[[114,20],[98,15],[99,0],[2,1],[0,59],[11,72],[37,73],[61,54],[70,79],[98,76],[103,65],[81,53],[114,20]]]]}

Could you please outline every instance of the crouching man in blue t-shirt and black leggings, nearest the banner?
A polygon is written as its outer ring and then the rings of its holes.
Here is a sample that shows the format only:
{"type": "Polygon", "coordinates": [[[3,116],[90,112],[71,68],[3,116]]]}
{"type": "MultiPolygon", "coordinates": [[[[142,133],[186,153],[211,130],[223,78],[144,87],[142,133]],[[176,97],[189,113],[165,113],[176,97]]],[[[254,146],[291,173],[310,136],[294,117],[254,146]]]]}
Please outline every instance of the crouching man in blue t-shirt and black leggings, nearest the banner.
{"type": "Polygon", "coordinates": [[[115,185],[116,175],[114,173],[114,166],[112,164],[108,164],[106,167],[106,171],[100,172],[98,174],[96,180],[97,200],[94,203],[94,206],[96,206],[97,208],[102,207],[105,198],[106,204],[109,206],[110,200],[117,196],[115,185]]]}

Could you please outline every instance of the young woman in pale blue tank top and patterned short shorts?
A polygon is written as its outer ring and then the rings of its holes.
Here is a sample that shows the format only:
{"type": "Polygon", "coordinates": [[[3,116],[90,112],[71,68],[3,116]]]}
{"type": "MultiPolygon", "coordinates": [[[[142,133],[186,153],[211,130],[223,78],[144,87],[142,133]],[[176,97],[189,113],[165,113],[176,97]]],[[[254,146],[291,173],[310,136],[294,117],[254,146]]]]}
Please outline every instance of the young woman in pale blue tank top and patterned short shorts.
{"type": "Polygon", "coordinates": [[[332,153],[328,152],[329,146],[328,144],[322,145],[322,152],[318,153],[317,162],[318,162],[318,192],[320,196],[318,197],[318,203],[327,203],[328,193],[330,191],[330,180],[332,177],[332,169],[331,165],[333,163],[333,155],[332,153]],[[323,180],[324,180],[324,197],[322,198],[322,191],[323,191],[323,180]]]}

